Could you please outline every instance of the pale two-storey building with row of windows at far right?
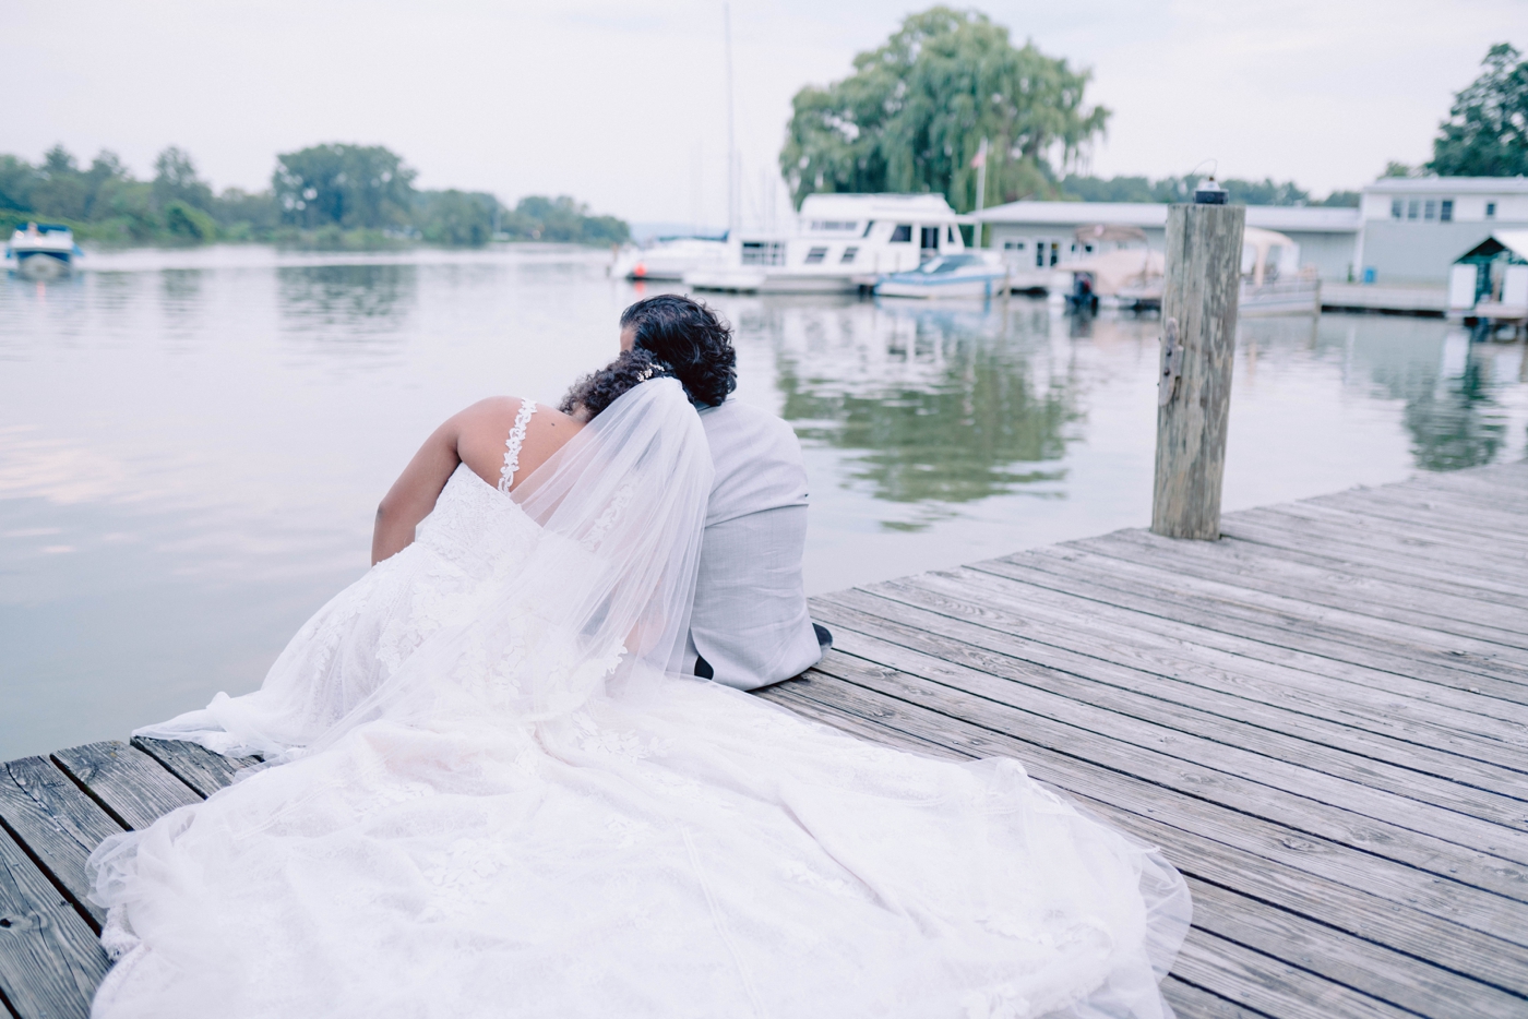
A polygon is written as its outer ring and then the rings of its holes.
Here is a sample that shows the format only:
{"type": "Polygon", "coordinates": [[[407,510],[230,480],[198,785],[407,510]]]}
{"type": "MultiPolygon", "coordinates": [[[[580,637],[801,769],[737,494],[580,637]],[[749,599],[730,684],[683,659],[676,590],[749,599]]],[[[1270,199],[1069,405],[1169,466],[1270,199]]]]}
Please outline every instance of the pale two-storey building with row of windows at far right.
{"type": "Polygon", "coordinates": [[[1386,177],[1363,189],[1358,211],[1358,264],[1374,283],[1442,286],[1462,252],[1496,231],[1528,229],[1528,179],[1386,177]]]}

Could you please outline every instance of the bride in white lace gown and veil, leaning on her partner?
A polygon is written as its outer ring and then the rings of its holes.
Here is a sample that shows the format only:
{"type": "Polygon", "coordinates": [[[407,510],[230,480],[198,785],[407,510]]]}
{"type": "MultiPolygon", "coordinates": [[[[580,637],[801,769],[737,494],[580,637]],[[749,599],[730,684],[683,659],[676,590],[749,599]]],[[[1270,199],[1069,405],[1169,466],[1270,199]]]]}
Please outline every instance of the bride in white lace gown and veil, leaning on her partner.
{"type": "Polygon", "coordinates": [[[730,354],[458,414],[264,686],[142,730],[266,765],[96,849],[93,1014],[1170,1016],[1158,852],[680,675],[730,354]]]}

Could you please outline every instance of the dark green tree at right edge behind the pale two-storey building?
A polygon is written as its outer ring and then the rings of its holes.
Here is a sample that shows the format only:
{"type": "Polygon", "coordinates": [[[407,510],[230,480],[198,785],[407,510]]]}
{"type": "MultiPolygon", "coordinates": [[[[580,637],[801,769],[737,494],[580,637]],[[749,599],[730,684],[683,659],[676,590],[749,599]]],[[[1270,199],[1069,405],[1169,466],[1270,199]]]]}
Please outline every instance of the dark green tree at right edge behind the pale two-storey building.
{"type": "Polygon", "coordinates": [[[1427,170],[1444,177],[1528,174],[1528,61],[1520,57],[1507,43],[1487,50],[1485,72],[1438,125],[1427,170]]]}

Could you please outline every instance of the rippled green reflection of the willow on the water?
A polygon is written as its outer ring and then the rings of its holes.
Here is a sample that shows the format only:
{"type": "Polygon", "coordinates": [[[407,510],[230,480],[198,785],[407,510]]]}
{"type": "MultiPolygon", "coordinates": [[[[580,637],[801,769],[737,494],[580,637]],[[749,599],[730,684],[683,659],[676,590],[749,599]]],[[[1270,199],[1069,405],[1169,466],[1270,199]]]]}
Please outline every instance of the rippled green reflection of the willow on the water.
{"type": "Polygon", "coordinates": [[[1083,419],[1077,379],[1030,316],[1001,304],[775,306],[740,325],[775,344],[781,414],[802,442],[854,454],[840,483],[927,504],[883,527],[918,530],[947,515],[940,504],[1065,478],[1056,461],[1083,419]]]}

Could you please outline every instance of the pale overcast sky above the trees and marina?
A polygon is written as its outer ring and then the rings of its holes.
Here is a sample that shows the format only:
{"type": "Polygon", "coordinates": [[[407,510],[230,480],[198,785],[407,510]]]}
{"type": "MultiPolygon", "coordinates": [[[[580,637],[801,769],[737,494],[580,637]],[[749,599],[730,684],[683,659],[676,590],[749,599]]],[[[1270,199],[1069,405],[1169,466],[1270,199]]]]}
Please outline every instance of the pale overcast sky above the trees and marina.
{"type": "MultiPolygon", "coordinates": [[[[733,0],[749,211],[804,84],[850,70],[927,5],[733,0]]],[[[1487,47],[1528,47],[1528,0],[1070,0],[973,5],[1091,67],[1114,110],[1093,173],[1293,179],[1322,196],[1420,162],[1487,47]]],[[[634,222],[726,218],[717,0],[3,0],[0,151],[112,148],[141,176],[165,145],[217,188],[274,156],[382,144],[419,186],[573,194],[634,222]]],[[[784,209],[784,197],[775,199],[784,209]]]]}

